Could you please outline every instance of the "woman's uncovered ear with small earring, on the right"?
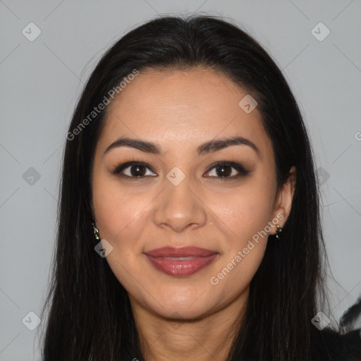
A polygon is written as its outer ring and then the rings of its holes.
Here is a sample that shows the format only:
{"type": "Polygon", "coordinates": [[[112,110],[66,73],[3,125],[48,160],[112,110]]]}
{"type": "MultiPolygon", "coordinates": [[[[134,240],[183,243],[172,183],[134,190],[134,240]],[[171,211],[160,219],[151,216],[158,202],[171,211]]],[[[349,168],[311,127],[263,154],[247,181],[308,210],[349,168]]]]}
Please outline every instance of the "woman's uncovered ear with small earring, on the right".
{"type": "Polygon", "coordinates": [[[296,169],[295,166],[290,168],[288,172],[288,178],[286,183],[284,183],[279,190],[279,193],[276,195],[276,200],[274,202],[274,212],[273,219],[278,219],[278,222],[271,222],[271,231],[269,234],[276,234],[276,226],[282,228],[290,215],[290,209],[292,207],[293,194],[295,192],[296,184],[296,169]]]}

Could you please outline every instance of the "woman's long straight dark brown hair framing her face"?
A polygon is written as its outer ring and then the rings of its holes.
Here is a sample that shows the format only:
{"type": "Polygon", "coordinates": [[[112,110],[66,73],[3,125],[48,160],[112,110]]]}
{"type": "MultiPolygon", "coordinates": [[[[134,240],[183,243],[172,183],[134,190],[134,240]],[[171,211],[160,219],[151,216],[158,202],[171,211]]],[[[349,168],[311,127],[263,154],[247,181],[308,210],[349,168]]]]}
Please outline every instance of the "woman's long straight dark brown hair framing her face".
{"type": "Polygon", "coordinates": [[[128,293],[94,251],[90,171],[106,112],[91,119],[89,114],[135,69],[194,66],[227,75],[257,100],[274,147],[277,191],[290,167],[297,169],[281,241],[269,236],[228,360],[317,359],[321,336],[311,319],[326,294],[324,240],[314,156],[295,98],[267,51],[231,21],[163,16],[128,32],[106,51],[73,114],[63,154],[54,270],[43,310],[49,308],[44,361],[144,360],[128,293]]]}

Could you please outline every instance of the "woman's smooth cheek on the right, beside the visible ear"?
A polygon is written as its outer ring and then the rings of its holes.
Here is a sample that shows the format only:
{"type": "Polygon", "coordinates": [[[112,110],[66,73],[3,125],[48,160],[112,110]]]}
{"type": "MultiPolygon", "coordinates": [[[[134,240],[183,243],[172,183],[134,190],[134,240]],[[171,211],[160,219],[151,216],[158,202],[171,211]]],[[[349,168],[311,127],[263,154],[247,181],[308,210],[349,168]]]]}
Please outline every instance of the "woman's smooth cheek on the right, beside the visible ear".
{"type": "Polygon", "coordinates": [[[273,184],[266,184],[264,178],[262,175],[255,177],[244,187],[224,193],[222,197],[209,197],[207,204],[216,209],[218,223],[224,225],[226,232],[219,276],[227,281],[222,281],[221,288],[232,284],[237,285],[237,290],[243,288],[262,262],[273,201],[273,184]]]}

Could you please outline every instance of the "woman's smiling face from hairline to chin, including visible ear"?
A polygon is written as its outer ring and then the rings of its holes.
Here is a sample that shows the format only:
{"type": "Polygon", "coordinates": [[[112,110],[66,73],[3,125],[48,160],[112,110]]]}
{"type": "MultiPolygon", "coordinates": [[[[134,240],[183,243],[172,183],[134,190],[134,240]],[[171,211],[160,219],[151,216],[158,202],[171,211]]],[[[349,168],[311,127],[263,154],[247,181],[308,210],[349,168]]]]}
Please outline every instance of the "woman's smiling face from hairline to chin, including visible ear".
{"type": "Polygon", "coordinates": [[[246,95],[209,69],[148,71],[109,104],[92,202],[102,244],[113,247],[106,260],[133,307],[191,319],[247,299],[290,192],[276,197],[271,140],[257,107],[239,105],[246,95]],[[120,137],[153,146],[108,149],[120,137]],[[244,141],[219,142],[231,137],[244,141]],[[141,164],[119,167],[129,161],[141,164]],[[162,247],[173,253],[151,252],[162,247]]]}

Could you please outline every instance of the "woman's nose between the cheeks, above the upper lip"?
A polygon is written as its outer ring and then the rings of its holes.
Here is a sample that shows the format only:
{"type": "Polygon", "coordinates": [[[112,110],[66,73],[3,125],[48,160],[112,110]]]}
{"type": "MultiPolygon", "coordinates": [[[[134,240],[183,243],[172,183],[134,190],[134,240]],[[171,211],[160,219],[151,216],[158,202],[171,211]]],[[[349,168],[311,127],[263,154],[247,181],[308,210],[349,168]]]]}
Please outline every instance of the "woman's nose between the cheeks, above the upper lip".
{"type": "Polygon", "coordinates": [[[153,220],[159,227],[181,233],[207,224],[206,208],[187,177],[178,185],[166,181],[165,189],[155,199],[153,220]]]}

